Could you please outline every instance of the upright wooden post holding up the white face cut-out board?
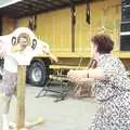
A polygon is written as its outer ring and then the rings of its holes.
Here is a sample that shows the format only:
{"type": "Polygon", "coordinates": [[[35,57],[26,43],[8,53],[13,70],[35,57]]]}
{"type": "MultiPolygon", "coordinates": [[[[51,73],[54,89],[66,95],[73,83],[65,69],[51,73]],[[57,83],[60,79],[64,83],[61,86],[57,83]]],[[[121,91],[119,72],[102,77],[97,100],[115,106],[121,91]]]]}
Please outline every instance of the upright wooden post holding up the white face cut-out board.
{"type": "Polygon", "coordinates": [[[26,66],[18,65],[17,76],[17,130],[25,128],[26,66]]]}

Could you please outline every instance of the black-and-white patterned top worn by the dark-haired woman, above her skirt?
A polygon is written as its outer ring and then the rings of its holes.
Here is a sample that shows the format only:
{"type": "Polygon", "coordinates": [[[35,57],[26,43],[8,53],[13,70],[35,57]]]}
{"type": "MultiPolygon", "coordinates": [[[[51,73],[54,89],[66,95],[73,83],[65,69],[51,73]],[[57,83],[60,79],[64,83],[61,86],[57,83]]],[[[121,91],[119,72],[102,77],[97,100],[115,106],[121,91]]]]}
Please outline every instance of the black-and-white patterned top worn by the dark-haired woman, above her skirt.
{"type": "Polygon", "coordinates": [[[104,80],[95,80],[98,100],[108,100],[123,91],[130,91],[130,80],[121,61],[112,54],[102,54],[98,67],[105,74],[104,80]]]}

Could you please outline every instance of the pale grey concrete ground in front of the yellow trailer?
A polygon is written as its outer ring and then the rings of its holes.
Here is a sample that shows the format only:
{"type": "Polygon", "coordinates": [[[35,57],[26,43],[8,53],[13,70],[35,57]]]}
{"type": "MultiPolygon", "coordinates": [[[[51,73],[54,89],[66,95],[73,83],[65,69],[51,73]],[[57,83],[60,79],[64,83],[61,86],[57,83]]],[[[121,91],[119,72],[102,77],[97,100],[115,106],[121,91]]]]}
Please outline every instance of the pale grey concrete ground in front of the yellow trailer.
{"type": "MultiPolygon", "coordinates": [[[[53,102],[54,98],[43,96],[36,99],[35,95],[41,88],[27,86],[26,91],[26,119],[34,121],[42,117],[43,125],[30,130],[87,130],[98,108],[94,99],[66,99],[62,102],[53,102]]],[[[16,119],[16,101],[11,102],[9,118],[16,119]]]]}

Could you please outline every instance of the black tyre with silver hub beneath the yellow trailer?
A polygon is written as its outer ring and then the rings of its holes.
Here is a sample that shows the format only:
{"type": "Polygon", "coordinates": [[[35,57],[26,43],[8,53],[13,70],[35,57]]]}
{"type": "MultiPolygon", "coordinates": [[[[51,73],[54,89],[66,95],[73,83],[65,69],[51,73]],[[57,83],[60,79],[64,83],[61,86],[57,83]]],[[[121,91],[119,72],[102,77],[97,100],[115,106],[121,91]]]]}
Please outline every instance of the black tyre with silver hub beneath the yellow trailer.
{"type": "Polygon", "coordinates": [[[49,67],[42,61],[34,62],[28,68],[27,79],[32,86],[43,87],[49,79],[49,67]]]}

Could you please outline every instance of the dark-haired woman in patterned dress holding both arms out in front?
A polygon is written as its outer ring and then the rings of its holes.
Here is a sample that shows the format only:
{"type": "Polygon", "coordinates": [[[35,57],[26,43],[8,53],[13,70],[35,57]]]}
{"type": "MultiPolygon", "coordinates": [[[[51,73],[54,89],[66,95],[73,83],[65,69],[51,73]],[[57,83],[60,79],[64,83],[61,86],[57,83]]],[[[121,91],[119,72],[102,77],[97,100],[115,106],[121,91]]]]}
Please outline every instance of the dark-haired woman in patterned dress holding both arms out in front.
{"type": "Polygon", "coordinates": [[[106,35],[92,38],[96,68],[70,70],[72,81],[94,81],[99,109],[89,130],[130,130],[130,80],[121,61],[110,52],[114,42],[106,35]]]}

